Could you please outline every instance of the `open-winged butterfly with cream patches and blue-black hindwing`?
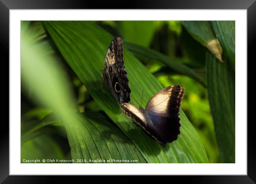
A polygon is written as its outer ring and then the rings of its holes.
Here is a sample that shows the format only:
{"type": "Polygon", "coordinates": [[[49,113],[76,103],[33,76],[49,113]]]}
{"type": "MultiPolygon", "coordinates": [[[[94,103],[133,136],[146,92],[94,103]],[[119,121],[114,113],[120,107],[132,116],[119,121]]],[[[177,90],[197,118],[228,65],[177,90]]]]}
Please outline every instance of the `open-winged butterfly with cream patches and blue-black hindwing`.
{"type": "Polygon", "coordinates": [[[179,109],[185,89],[169,86],[156,93],[147,103],[146,109],[122,103],[122,111],[132,118],[144,131],[164,146],[177,140],[180,134],[179,109]]]}

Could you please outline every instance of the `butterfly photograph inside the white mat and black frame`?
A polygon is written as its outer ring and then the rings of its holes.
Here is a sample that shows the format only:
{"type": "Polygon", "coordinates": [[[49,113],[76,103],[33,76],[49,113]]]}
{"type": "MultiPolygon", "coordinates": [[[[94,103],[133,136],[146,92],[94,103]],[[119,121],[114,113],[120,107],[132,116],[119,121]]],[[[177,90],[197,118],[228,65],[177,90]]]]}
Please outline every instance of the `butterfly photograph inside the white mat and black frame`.
{"type": "Polygon", "coordinates": [[[235,163],[235,21],[20,26],[20,163],[235,163]]]}

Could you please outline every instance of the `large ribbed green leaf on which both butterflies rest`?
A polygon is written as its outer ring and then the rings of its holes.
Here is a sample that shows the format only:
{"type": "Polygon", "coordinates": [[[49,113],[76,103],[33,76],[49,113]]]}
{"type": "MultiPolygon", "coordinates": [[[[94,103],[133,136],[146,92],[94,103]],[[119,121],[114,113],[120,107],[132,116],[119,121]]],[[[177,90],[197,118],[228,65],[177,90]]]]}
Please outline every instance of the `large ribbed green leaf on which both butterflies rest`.
{"type": "MultiPolygon", "coordinates": [[[[201,139],[183,111],[178,140],[163,147],[125,116],[106,85],[100,88],[99,77],[113,36],[90,21],[45,21],[44,25],[99,107],[133,140],[148,163],[208,163],[201,139]]],[[[140,101],[144,89],[142,106],[146,106],[149,98],[163,87],[126,48],[124,60],[131,96],[140,101]]],[[[133,100],[131,103],[135,104],[133,100]]]]}

